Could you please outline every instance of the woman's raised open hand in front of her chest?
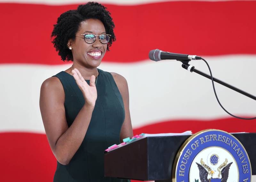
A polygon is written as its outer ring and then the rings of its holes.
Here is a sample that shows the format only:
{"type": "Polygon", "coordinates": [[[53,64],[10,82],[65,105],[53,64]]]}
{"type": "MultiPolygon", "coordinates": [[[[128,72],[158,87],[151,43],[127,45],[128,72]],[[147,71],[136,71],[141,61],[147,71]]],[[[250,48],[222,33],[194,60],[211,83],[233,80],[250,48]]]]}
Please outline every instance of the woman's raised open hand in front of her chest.
{"type": "Polygon", "coordinates": [[[72,70],[73,77],[76,80],[76,84],[83,93],[85,104],[91,107],[95,106],[97,99],[97,90],[95,86],[95,76],[92,75],[90,79],[90,85],[82,77],[81,73],[75,68],[72,70]]]}

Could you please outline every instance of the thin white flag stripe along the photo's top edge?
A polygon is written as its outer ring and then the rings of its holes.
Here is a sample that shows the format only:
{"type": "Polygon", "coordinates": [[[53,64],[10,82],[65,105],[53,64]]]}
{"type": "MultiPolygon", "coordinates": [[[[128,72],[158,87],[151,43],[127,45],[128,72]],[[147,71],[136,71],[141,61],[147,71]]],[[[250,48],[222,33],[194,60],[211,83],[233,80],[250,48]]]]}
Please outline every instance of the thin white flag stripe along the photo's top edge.
{"type": "MultiPolygon", "coordinates": [[[[102,4],[118,4],[118,5],[138,5],[138,4],[148,4],[148,3],[160,3],[160,2],[170,2],[177,0],[100,0],[97,1],[102,4]]],[[[179,0],[179,1],[189,1],[189,0],[179,0]]],[[[194,1],[194,0],[190,0],[194,1]]],[[[196,0],[196,1],[227,1],[227,0],[196,0]]],[[[236,1],[236,0],[228,0],[236,1]]],[[[247,0],[242,0],[247,1],[247,0]]],[[[0,0],[0,3],[22,3],[22,4],[47,4],[47,5],[64,5],[64,4],[84,4],[88,1],[83,0],[0,0]]]]}

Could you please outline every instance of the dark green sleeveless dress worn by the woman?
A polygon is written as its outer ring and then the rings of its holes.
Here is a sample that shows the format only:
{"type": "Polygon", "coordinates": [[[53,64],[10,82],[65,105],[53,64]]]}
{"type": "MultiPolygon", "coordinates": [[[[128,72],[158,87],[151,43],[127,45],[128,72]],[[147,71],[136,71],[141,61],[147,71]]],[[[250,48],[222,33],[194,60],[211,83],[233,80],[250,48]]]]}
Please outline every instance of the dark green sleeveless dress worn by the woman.
{"type": "MultiPolygon", "coordinates": [[[[97,100],[88,130],[81,146],[68,165],[57,161],[54,182],[128,182],[127,179],[104,177],[104,150],[120,143],[120,130],[124,122],[124,103],[109,72],[98,69],[97,100]]],[[[82,91],[72,75],[56,75],[65,91],[65,111],[68,127],[72,125],[84,105],[82,91]]],[[[89,84],[89,80],[86,80],[89,84]]]]}

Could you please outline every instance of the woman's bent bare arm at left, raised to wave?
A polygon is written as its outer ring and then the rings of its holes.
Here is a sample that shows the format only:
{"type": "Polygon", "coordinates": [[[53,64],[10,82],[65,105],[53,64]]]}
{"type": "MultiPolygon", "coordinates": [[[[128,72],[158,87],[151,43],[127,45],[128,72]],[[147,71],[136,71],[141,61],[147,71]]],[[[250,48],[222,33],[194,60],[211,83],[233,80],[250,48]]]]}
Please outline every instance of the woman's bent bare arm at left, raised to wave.
{"type": "MultiPolygon", "coordinates": [[[[78,82],[79,76],[74,76],[74,78],[78,82]]],[[[92,84],[94,84],[93,79],[95,81],[94,76],[91,78],[92,84]]],[[[86,95],[83,90],[82,92],[86,95]]],[[[41,86],[40,110],[45,133],[54,156],[63,165],[70,162],[84,140],[92,117],[94,100],[96,101],[97,98],[97,92],[96,97],[95,93],[93,94],[94,98],[90,98],[92,102],[85,102],[87,104],[84,104],[73,124],[68,128],[64,108],[65,93],[60,80],[57,77],[51,77],[45,80],[41,86]]],[[[87,95],[91,96],[90,93],[87,95]]]]}

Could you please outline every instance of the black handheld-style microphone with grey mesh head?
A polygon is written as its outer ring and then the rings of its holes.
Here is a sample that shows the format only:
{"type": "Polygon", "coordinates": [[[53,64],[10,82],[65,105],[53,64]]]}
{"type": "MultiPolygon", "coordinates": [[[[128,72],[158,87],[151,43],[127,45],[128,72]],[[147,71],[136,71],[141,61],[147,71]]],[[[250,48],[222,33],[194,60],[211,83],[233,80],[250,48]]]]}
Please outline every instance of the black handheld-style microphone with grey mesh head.
{"type": "Polygon", "coordinates": [[[161,61],[164,59],[176,59],[178,61],[191,61],[196,59],[201,59],[201,57],[196,55],[188,55],[188,54],[177,54],[171,52],[164,52],[159,49],[150,50],[148,54],[149,59],[152,61],[161,61]]]}

